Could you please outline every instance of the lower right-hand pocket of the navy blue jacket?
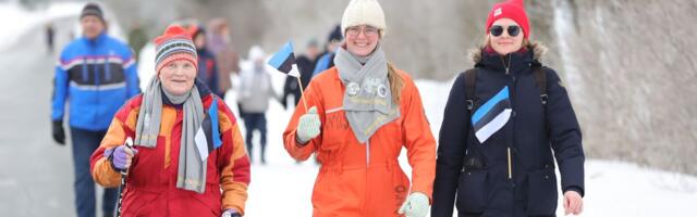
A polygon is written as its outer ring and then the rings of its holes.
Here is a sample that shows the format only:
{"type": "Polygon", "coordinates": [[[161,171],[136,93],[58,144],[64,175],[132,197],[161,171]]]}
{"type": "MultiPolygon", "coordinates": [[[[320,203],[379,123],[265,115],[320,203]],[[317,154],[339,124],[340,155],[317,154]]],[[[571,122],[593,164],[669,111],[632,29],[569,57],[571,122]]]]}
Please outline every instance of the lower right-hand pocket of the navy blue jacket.
{"type": "Polygon", "coordinates": [[[557,210],[557,176],[553,168],[528,173],[528,215],[552,216],[557,210]]]}

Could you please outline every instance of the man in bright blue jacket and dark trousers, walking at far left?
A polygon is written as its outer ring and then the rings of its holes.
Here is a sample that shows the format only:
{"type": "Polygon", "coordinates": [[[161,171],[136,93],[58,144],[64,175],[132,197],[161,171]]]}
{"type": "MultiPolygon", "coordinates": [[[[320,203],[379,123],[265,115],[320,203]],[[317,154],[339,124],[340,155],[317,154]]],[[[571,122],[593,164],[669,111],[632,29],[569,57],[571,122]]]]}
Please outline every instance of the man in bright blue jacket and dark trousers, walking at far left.
{"type": "MultiPolygon", "coordinates": [[[[131,48],[107,35],[98,4],[83,8],[80,25],[83,36],[63,49],[56,66],[51,120],[53,140],[64,145],[63,117],[70,101],[75,208],[77,216],[84,217],[96,215],[89,155],[99,145],[117,110],[140,89],[131,48]]],[[[115,201],[117,189],[105,189],[105,216],[113,215],[115,201]]]]}

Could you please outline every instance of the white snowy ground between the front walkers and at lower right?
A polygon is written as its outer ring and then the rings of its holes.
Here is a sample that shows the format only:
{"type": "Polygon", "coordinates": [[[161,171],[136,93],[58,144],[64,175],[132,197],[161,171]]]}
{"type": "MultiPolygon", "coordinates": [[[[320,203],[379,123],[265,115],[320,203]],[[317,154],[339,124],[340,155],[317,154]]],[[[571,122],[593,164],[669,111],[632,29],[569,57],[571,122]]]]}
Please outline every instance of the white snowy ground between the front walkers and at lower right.
{"type": "MultiPolygon", "coordinates": [[[[282,74],[276,85],[282,81],[282,74]]],[[[416,81],[431,128],[438,135],[450,82],[416,81]]],[[[230,99],[228,100],[229,102],[230,99]]],[[[269,122],[268,165],[255,163],[249,187],[248,214],[254,216],[310,216],[310,194],[318,168],[311,162],[296,165],[285,153],[281,141],[290,112],[273,103],[267,113],[269,122]],[[273,208],[269,208],[273,204],[273,208]],[[289,213],[292,210],[292,213],[289,213]]],[[[256,153],[255,153],[256,154],[256,153]]],[[[403,153],[402,168],[411,174],[403,153]]],[[[697,177],[635,164],[589,159],[586,163],[586,197],[582,216],[692,216],[697,204],[697,177]]],[[[560,205],[558,215],[563,216],[560,205]]]]}

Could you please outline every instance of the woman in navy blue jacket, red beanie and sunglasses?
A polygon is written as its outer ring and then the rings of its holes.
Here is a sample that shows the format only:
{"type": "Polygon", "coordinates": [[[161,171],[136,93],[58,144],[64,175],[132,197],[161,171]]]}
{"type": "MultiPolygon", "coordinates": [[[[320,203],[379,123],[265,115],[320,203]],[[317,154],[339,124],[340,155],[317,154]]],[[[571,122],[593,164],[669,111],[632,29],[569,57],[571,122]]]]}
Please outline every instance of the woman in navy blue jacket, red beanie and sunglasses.
{"type": "Polygon", "coordinates": [[[546,48],[528,40],[523,2],[496,4],[486,33],[445,105],[431,216],[452,216],[455,202],[458,216],[555,216],[554,158],[564,210],[579,214],[580,128],[559,76],[541,66],[546,48]]]}

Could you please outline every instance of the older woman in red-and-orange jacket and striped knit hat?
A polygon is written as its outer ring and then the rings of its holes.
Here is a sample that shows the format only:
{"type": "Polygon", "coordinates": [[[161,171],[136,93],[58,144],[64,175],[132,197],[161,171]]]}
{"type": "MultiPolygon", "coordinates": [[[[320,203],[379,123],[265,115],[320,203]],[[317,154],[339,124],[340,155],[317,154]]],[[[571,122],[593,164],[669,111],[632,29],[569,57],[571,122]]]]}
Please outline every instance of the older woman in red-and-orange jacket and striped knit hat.
{"type": "Polygon", "coordinates": [[[124,217],[244,215],[249,158],[234,115],[196,79],[188,31],[170,26],[155,43],[156,75],[113,117],[91,155],[95,181],[118,187],[127,171],[124,217]]]}

